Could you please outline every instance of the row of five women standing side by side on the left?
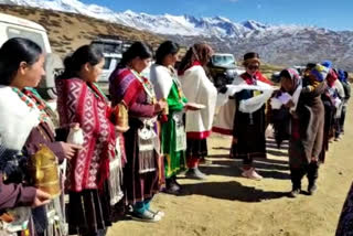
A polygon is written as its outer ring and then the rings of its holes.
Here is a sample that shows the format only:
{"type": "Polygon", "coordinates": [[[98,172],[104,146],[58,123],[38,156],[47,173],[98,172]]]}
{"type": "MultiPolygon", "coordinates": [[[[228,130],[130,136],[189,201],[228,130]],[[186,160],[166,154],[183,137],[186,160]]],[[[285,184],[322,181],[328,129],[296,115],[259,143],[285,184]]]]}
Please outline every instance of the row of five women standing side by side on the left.
{"type": "Polygon", "coordinates": [[[0,230],[26,235],[105,235],[117,216],[158,222],[156,193],[180,193],[176,174],[205,179],[216,88],[205,65],[213,51],[193,45],[181,62],[167,41],[153,57],[133,43],[97,86],[104,54],[83,45],[55,79],[57,114],[35,92],[44,52],[14,37],[0,49],[0,230]],[[186,112],[186,116],[185,116],[186,112]],[[58,191],[57,191],[58,189],[58,191]],[[56,190],[56,191],[53,191],[56,190]],[[68,195],[68,203],[65,195],[68,195]],[[66,224],[67,223],[67,224],[66,224]]]}

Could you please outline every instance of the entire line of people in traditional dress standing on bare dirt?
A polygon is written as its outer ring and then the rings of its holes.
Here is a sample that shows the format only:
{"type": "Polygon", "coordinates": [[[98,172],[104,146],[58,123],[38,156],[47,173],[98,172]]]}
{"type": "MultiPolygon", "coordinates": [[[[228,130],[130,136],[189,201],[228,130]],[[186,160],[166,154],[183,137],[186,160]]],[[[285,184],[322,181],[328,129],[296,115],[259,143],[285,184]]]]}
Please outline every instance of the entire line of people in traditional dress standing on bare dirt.
{"type": "MultiPolygon", "coordinates": [[[[212,54],[210,45],[194,44],[175,68],[179,45],[165,41],[146,78],[153,54],[136,42],[109,77],[108,99],[96,84],[103,52],[81,46],[64,60],[55,81],[57,121],[34,89],[44,75],[43,51],[25,39],[6,42],[0,49],[0,230],[105,235],[117,214],[159,222],[164,213],[150,206],[159,191],[179,194],[182,171],[206,179],[199,164],[207,155],[220,96],[206,68],[212,54]],[[53,193],[55,184],[61,191],[53,193]]],[[[347,75],[331,65],[308,65],[301,76],[288,68],[275,92],[259,72],[257,53],[245,54],[244,66],[233,87],[220,89],[235,98],[229,100],[235,107],[232,154],[244,160],[242,175],[261,179],[253,160],[266,158],[268,114],[282,109],[291,130],[290,194],[300,193],[304,174],[313,193],[329,140],[344,131],[347,75]],[[270,98],[280,106],[271,107],[270,98]]]]}

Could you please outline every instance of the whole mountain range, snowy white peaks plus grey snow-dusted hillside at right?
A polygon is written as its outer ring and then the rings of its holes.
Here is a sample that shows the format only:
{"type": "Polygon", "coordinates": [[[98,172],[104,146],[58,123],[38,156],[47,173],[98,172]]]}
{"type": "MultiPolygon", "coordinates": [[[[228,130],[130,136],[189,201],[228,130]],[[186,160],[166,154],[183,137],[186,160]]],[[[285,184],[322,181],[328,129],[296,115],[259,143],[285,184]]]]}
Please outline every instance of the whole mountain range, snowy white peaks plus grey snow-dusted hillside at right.
{"type": "Polygon", "coordinates": [[[218,52],[237,57],[256,51],[268,63],[293,65],[331,60],[338,66],[351,69],[353,64],[353,32],[335,32],[302,25],[267,25],[253,20],[233,22],[223,17],[151,15],[130,10],[113,10],[85,4],[78,0],[0,0],[13,4],[55,11],[73,12],[162,34],[183,45],[206,41],[218,52]]]}

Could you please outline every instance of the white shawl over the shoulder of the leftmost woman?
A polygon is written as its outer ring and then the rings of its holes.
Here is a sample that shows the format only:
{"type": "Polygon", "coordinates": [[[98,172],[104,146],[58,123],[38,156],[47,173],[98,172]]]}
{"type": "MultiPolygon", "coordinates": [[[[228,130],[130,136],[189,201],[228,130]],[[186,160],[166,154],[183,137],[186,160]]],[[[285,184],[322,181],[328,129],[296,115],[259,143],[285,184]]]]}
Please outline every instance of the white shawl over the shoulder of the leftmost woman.
{"type": "Polygon", "coordinates": [[[34,104],[30,108],[11,87],[0,86],[0,136],[6,148],[22,150],[39,117],[34,104]]]}

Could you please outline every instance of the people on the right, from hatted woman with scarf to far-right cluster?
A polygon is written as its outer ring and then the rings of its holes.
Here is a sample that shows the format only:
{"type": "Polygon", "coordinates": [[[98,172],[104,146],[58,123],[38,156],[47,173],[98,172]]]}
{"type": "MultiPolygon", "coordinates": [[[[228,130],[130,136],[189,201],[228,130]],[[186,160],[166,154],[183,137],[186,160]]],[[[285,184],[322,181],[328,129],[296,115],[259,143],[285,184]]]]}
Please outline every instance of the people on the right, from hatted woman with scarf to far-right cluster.
{"type": "Polygon", "coordinates": [[[329,61],[309,63],[302,72],[281,71],[277,89],[259,72],[257,53],[245,54],[243,65],[245,73],[223,89],[234,99],[224,101],[213,130],[233,135],[231,157],[244,160],[242,175],[261,180],[253,159],[266,158],[265,132],[271,124],[278,147],[282,140],[289,140],[290,196],[302,192],[304,175],[309,182],[308,193],[313,194],[329,143],[340,140],[344,133],[351,93],[347,73],[333,68],[329,61]]]}

